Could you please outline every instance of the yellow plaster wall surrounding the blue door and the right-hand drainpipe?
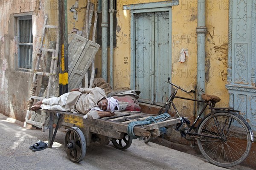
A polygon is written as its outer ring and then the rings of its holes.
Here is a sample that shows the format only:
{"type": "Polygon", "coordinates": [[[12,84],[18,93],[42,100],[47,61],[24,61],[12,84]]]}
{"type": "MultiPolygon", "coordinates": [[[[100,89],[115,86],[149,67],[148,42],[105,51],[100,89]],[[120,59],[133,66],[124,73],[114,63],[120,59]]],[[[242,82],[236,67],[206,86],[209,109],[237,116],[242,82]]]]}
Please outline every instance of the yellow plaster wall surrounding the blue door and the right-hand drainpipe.
{"type": "MultiPolygon", "coordinates": [[[[141,3],[140,0],[117,1],[117,47],[114,48],[113,86],[115,89],[130,87],[130,11],[122,10],[127,3],[141,3]],[[128,64],[124,64],[128,57],[128,64]]],[[[143,1],[144,3],[155,1],[143,1]]],[[[225,88],[227,80],[227,33],[228,6],[227,1],[206,0],[206,87],[207,94],[221,98],[218,106],[228,106],[229,95],[225,88]]],[[[188,90],[195,89],[197,70],[197,1],[180,0],[178,6],[172,8],[172,82],[188,90]],[[186,62],[180,63],[179,55],[182,48],[188,49],[186,62]]],[[[98,53],[96,66],[101,67],[101,53],[98,53]]],[[[181,93],[180,96],[189,97],[181,93]]],[[[193,96],[193,94],[192,94],[193,96]]],[[[176,101],[182,112],[192,111],[193,102],[176,101]],[[189,110],[188,110],[189,109],[189,110]]]]}

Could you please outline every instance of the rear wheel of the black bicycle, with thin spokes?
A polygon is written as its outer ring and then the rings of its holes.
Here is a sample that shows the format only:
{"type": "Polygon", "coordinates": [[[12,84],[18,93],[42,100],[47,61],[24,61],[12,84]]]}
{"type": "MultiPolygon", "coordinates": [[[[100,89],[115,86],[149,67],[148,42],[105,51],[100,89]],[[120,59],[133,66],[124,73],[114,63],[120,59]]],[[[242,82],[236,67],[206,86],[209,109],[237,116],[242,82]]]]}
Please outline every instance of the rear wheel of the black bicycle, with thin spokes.
{"type": "Polygon", "coordinates": [[[236,113],[207,115],[198,127],[198,134],[202,134],[198,140],[199,150],[209,162],[219,167],[241,163],[252,145],[245,120],[236,113]]]}

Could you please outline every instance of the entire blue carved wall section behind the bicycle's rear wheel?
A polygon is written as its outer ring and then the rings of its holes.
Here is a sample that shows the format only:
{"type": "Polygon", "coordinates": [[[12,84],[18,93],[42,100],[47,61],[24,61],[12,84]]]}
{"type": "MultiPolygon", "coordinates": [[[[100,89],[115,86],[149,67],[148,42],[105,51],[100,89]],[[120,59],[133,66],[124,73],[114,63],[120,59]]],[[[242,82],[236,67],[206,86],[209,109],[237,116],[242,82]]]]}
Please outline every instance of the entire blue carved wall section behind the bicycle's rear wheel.
{"type": "Polygon", "coordinates": [[[256,0],[230,0],[229,10],[230,107],[256,130],[256,0]]]}

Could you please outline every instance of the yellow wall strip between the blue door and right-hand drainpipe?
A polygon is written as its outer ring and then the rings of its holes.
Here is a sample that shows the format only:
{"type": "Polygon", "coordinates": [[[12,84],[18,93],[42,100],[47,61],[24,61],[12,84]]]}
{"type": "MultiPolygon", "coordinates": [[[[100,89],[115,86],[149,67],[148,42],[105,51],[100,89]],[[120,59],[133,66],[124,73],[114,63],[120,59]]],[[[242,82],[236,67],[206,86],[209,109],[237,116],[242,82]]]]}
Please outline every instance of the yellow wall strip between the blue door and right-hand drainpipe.
{"type": "MultiPolygon", "coordinates": [[[[189,1],[180,1],[172,8],[172,82],[187,90],[195,89],[197,77],[197,8],[191,7],[189,1]],[[189,54],[183,63],[179,62],[182,48],[187,48],[189,54]]],[[[181,91],[178,96],[195,97],[181,91]]],[[[183,116],[193,117],[193,102],[175,99],[175,105],[183,116]]]]}

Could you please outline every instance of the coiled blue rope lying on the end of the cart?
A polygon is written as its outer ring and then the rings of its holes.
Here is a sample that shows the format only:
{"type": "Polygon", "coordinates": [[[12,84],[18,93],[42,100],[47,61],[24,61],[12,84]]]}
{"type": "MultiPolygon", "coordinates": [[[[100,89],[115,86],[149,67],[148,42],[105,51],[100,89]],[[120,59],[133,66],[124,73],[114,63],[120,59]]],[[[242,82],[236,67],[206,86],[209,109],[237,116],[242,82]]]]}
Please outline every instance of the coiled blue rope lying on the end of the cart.
{"type": "MultiPolygon", "coordinates": [[[[145,120],[131,122],[131,123],[128,124],[127,133],[133,139],[137,139],[140,136],[136,136],[134,134],[134,127],[135,126],[138,126],[138,125],[140,125],[140,126],[141,125],[149,125],[151,123],[163,122],[166,119],[168,119],[169,117],[171,117],[171,116],[168,113],[163,113],[163,114],[160,114],[159,116],[156,116],[156,117],[150,116],[149,118],[147,118],[145,120]]],[[[164,133],[166,128],[165,127],[161,127],[160,130],[163,131],[163,133],[164,133]]]]}

